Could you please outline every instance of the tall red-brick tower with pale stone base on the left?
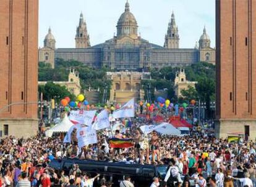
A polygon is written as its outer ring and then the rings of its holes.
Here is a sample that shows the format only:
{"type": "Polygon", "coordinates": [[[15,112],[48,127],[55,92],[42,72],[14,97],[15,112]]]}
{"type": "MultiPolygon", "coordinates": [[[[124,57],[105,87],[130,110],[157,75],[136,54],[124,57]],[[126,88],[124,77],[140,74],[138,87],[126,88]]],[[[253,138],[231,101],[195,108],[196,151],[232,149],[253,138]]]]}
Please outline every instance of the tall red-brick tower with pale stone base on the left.
{"type": "Polygon", "coordinates": [[[38,0],[0,2],[0,136],[38,129],[38,0]]]}

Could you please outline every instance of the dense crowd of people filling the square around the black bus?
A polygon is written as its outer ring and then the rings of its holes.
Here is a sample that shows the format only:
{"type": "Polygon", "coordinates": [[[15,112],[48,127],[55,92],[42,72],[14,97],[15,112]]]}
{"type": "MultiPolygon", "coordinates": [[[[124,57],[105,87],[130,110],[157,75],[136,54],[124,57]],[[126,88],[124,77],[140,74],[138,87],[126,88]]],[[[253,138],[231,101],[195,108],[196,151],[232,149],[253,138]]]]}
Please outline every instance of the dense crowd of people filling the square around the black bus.
{"type": "MultiPolygon", "coordinates": [[[[98,132],[98,143],[82,149],[77,146],[76,132],[71,143],[55,136],[38,134],[33,138],[7,137],[0,145],[0,186],[114,186],[105,175],[91,176],[74,164],[69,173],[49,167],[53,159],[77,157],[102,162],[127,164],[167,164],[166,176],[152,177],[156,186],[249,186],[256,184],[255,141],[237,142],[209,136],[207,129],[191,130],[189,136],[173,137],[153,131],[143,134],[140,125],[147,119],[135,118],[132,127],[116,130],[114,137],[133,138],[131,148],[109,148],[107,130],[98,132]],[[203,133],[202,133],[203,132],[203,133]]],[[[138,186],[129,176],[119,186],[138,186]]]]}

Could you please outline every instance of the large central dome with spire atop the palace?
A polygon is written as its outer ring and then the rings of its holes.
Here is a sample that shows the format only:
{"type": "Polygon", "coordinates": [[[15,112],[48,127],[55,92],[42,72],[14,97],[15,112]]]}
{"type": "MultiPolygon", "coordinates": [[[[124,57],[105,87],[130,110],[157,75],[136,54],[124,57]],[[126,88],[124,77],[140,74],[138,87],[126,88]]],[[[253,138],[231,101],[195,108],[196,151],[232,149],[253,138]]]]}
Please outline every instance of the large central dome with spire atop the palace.
{"type": "Polygon", "coordinates": [[[137,38],[138,25],[134,15],[130,12],[129,2],[126,2],[126,9],[117,22],[117,37],[130,36],[137,38]]]}

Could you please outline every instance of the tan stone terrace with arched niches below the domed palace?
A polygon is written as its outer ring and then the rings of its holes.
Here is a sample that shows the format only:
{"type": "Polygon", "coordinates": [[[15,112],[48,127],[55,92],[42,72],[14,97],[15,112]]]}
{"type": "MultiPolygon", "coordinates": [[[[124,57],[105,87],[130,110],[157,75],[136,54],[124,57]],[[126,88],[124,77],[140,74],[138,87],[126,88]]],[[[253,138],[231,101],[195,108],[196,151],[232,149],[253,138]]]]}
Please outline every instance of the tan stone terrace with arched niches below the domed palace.
{"type": "Polygon", "coordinates": [[[140,72],[107,72],[107,78],[112,80],[110,102],[125,103],[131,98],[135,101],[144,100],[142,80],[150,79],[150,73],[140,72]]]}

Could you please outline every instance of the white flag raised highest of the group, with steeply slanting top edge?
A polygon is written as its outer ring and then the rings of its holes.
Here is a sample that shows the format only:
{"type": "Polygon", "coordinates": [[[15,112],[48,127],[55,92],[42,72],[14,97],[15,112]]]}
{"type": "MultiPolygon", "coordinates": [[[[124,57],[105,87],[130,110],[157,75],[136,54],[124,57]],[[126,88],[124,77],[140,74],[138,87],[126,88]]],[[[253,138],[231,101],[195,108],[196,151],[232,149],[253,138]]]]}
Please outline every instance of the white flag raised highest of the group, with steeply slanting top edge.
{"type": "Polygon", "coordinates": [[[117,109],[116,111],[114,111],[113,117],[114,118],[134,117],[134,98],[129,100],[120,109],[117,109]]]}

